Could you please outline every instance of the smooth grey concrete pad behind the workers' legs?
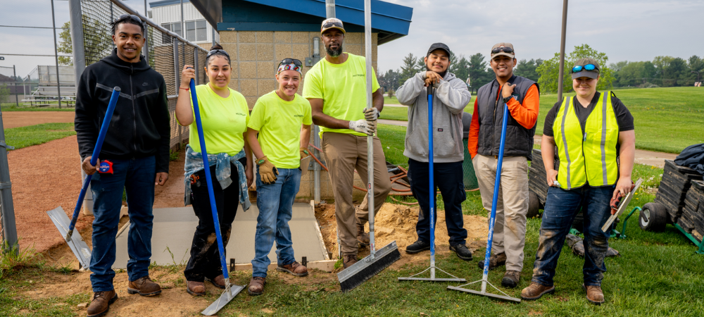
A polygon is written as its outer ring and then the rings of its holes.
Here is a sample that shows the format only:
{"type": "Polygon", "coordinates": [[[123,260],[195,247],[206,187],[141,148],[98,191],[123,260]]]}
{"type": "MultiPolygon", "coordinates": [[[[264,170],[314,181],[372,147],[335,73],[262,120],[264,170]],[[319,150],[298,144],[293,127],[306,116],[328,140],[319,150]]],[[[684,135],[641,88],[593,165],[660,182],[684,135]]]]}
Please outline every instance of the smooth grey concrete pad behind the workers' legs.
{"type": "MultiPolygon", "coordinates": [[[[158,265],[186,263],[190,258],[191,240],[198,225],[198,218],[189,207],[154,209],[154,227],[151,237],[151,261],[158,265]],[[173,258],[172,255],[173,254],[173,258]]],[[[254,235],[259,211],[252,205],[249,211],[241,208],[232,223],[230,243],[225,247],[227,265],[234,258],[236,263],[250,263],[254,258],[254,235]]],[[[310,204],[294,204],[293,216],[289,221],[291,239],[294,242],[296,261],[306,256],[308,261],[327,260],[327,252],[322,242],[318,221],[310,204]]],[[[127,268],[127,237],[130,230],[123,230],[115,244],[113,269],[127,268]]],[[[269,259],[276,262],[276,243],[269,253],[269,259]]]]}

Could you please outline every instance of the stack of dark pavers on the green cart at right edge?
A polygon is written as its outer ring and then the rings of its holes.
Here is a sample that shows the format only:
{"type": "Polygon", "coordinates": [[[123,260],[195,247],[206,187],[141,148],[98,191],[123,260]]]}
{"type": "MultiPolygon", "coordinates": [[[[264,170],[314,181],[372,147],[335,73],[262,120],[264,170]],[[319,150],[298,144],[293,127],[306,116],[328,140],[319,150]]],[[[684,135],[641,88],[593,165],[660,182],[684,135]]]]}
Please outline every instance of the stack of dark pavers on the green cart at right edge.
{"type": "MultiPolygon", "coordinates": [[[[665,160],[660,187],[653,202],[665,206],[667,213],[670,214],[672,223],[679,224],[682,211],[684,210],[684,199],[691,187],[692,180],[702,180],[702,175],[691,168],[677,166],[674,161],[665,160]]],[[[680,226],[687,232],[691,232],[693,225],[689,222],[689,219],[684,219],[682,223],[686,227],[681,224],[680,226]]]]}

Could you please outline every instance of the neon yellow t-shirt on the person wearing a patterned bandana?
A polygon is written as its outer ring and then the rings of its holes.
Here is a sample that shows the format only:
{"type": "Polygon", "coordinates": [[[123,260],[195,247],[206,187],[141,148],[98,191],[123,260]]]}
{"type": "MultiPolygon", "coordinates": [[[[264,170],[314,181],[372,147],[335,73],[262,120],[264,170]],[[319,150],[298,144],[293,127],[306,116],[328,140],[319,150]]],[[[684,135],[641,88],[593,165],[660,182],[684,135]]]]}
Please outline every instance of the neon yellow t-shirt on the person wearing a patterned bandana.
{"type": "Polygon", "coordinates": [[[302,124],[313,124],[308,100],[296,94],[285,101],[272,91],[257,100],[247,127],[259,131],[259,145],[274,166],[298,168],[302,124]]]}

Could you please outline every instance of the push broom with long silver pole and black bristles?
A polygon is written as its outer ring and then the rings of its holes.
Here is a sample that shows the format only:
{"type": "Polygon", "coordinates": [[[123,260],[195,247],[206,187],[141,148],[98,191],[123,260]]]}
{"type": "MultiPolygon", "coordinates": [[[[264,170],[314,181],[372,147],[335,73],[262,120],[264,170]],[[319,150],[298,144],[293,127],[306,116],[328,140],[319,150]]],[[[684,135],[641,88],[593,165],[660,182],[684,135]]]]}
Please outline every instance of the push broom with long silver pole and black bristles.
{"type": "MultiPolygon", "coordinates": [[[[364,42],[367,64],[367,109],[372,108],[372,4],[364,0],[364,42]]],[[[374,137],[367,136],[367,205],[369,206],[369,251],[357,263],[337,273],[340,290],[348,292],[401,259],[396,241],[375,250],[374,243],[374,137]]]]}

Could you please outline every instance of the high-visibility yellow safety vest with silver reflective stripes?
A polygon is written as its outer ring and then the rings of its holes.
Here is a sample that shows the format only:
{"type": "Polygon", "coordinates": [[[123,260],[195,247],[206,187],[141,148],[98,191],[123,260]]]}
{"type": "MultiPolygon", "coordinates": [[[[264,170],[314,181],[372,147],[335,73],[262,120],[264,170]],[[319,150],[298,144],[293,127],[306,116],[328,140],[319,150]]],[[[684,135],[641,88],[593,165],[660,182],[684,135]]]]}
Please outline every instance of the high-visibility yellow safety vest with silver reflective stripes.
{"type": "MultiPolygon", "coordinates": [[[[616,144],[618,123],[611,92],[603,92],[584,125],[579,124],[573,99],[565,97],[555,114],[553,135],[560,156],[558,182],[562,189],[614,185],[618,176],[616,144]]],[[[580,106],[580,105],[577,105],[580,106]]]]}

